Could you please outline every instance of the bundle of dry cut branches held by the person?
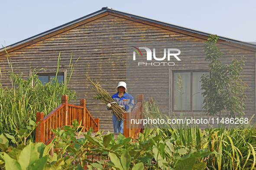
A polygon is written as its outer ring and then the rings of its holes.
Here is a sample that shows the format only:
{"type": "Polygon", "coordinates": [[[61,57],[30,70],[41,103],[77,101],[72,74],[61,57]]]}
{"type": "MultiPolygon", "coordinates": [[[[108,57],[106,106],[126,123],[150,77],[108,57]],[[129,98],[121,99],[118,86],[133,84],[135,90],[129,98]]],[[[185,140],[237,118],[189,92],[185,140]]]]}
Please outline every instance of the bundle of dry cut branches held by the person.
{"type": "Polygon", "coordinates": [[[107,92],[106,89],[102,88],[100,86],[100,83],[98,82],[93,82],[90,77],[86,76],[86,78],[89,80],[89,82],[91,82],[91,84],[94,86],[92,88],[92,90],[96,91],[97,94],[95,94],[96,96],[94,96],[94,99],[103,101],[106,104],[111,103],[111,107],[110,110],[113,111],[113,114],[115,116],[117,116],[118,120],[122,120],[123,119],[123,112],[124,110],[122,108],[119,107],[119,105],[113,100],[113,98],[111,98],[110,94],[107,92]]]}

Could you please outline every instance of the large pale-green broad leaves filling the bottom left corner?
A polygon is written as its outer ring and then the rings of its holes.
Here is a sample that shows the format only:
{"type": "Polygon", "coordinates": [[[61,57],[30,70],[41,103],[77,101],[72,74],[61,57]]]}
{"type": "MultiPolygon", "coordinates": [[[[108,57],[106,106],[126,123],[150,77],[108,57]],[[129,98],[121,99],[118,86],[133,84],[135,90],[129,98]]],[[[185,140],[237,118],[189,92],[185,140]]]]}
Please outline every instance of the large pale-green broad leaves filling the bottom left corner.
{"type": "Polygon", "coordinates": [[[1,134],[0,167],[5,170],[61,170],[64,165],[63,158],[58,159],[56,154],[49,154],[52,143],[45,145],[29,142],[28,145],[20,144],[16,148],[8,145],[8,139],[1,134]]]}

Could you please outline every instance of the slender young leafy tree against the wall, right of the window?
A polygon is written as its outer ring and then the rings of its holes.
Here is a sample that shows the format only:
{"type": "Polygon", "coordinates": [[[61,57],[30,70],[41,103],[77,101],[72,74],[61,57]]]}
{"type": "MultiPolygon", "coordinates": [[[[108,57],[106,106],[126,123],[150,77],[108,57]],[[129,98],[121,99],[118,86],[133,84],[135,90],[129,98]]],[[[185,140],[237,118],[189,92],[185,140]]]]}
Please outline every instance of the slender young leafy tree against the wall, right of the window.
{"type": "Polygon", "coordinates": [[[201,89],[204,96],[204,108],[208,115],[221,116],[227,112],[228,117],[243,116],[246,109],[245,100],[246,83],[241,79],[242,66],[244,66],[243,56],[240,60],[233,59],[232,63],[224,65],[219,59],[222,58],[220,49],[215,45],[218,40],[217,35],[209,35],[204,43],[206,58],[210,61],[211,76],[202,76],[201,89]]]}

